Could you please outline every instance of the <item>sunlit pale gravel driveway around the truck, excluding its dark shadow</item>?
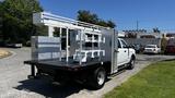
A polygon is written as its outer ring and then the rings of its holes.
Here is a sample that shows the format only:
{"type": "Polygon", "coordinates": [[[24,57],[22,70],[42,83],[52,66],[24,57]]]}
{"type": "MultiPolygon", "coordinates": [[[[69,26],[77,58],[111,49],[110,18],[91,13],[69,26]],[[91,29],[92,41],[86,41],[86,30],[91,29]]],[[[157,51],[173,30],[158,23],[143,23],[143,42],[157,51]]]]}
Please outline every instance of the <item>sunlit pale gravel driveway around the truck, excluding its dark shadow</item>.
{"type": "Polygon", "coordinates": [[[27,79],[31,69],[30,65],[24,65],[23,61],[30,60],[30,48],[7,50],[13,52],[13,54],[0,59],[0,98],[100,98],[148,64],[161,60],[175,59],[175,56],[138,54],[133,70],[126,70],[116,76],[110,76],[100,90],[88,90],[77,83],[56,85],[46,78],[27,79]]]}

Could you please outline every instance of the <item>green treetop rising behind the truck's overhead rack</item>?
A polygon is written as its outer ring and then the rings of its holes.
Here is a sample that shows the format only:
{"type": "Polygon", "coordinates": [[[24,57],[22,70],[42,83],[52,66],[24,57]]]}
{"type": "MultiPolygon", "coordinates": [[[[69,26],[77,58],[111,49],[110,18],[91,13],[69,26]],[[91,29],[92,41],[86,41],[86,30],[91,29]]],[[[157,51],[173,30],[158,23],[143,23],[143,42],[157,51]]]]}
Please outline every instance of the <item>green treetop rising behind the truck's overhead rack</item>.
{"type": "Polygon", "coordinates": [[[95,13],[91,13],[90,11],[86,11],[86,10],[78,11],[78,21],[92,23],[92,24],[96,24],[105,27],[112,27],[112,28],[115,28],[116,26],[113,21],[104,21],[100,19],[95,13]]]}

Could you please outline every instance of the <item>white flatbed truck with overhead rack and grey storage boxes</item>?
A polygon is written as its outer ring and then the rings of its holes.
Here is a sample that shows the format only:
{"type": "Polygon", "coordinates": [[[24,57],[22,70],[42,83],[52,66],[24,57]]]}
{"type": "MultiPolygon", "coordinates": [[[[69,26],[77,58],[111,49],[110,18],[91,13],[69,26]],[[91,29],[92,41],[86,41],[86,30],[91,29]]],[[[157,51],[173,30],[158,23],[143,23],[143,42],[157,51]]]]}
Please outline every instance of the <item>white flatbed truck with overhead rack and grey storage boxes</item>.
{"type": "Polygon", "coordinates": [[[136,52],[117,33],[47,12],[34,13],[36,25],[48,26],[48,36],[32,37],[30,78],[49,75],[56,82],[78,79],[94,89],[121,69],[133,69],[136,52]],[[55,27],[59,36],[54,37],[55,27]],[[37,69],[37,70],[36,70],[37,69]]]}

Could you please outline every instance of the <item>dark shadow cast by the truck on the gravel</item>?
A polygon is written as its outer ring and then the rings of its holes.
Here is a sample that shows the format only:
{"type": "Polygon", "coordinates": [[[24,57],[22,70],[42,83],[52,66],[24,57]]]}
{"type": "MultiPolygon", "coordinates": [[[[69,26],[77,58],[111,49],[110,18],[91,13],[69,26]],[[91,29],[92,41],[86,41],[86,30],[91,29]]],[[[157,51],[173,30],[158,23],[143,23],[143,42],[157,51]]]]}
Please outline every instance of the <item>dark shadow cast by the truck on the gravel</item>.
{"type": "Polygon", "coordinates": [[[26,79],[19,82],[21,85],[14,87],[18,90],[34,91],[49,98],[65,98],[72,94],[77,94],[84,87],[75,82],[69,84],[59,85],[52,84],[46,78],[40,79],[26,79]]]}

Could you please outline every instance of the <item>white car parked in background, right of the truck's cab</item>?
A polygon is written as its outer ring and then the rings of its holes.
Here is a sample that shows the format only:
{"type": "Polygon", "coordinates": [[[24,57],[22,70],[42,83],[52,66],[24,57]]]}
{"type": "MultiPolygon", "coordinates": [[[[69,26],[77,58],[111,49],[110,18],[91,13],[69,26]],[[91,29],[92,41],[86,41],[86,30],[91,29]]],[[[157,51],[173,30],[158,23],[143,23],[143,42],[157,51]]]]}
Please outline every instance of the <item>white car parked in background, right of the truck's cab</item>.
{"type": "Polygon", "coordinates": [[[159,48],[156,45],[147,45],[144,48],[143,53],[160,53],[161,48],[159,48]]]}

